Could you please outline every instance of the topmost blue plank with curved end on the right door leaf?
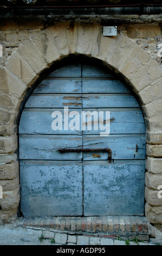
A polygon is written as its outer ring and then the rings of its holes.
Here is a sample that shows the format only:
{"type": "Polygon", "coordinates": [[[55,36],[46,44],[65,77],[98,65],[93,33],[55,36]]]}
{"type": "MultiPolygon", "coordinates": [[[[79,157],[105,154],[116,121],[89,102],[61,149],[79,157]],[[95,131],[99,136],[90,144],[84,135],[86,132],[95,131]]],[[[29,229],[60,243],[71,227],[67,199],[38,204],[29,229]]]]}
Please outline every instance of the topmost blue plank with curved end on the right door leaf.
{"type": "Polygon", "coordinates": [[[112,77],[112,74],[96,66],[83,64],[82,77],[112,77]]]}

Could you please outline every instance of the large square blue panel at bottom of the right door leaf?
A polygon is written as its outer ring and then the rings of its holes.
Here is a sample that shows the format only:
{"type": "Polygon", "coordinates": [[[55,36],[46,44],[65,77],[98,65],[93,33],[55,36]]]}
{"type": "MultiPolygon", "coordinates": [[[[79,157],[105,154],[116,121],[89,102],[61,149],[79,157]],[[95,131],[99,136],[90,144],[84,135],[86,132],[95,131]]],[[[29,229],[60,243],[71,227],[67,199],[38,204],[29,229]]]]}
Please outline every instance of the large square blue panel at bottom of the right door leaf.
{"type": "Polygon", "coordinates": [[[84,216],[144,215],[145,160],[85,162],[84,216]]]}

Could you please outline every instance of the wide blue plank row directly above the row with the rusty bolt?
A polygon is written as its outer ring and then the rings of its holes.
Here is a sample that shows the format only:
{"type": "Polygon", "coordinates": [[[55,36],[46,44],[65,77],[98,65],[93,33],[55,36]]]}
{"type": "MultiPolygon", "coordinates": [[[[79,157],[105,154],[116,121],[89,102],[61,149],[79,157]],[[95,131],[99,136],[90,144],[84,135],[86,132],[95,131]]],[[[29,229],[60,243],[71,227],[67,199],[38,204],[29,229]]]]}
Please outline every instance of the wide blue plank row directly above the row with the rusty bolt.
{"type": "MultiPolygon", "coordinates": [[[[71,114],[73,111],[77,111],[76,113],[79,115],[79,130],[64,129],[64,109],[63,108],[25,108],[20,120],[19,125],[19,133],[20,134],[81,134],[81,111],[87,112],[87,109],[77,109],[70,108],[68,113],[71,114]],[[52,113],[55,111],[59,111],[62,114],[62,131],[56,130],[54,131],[51,127],[53,120],[56,118],[52,118],[52,113]]],[[[86,130],[83,131],[84,134],[100,134],[102,132],[102,128],[99,125],[99,111],[103,111],[103,122],[102,125],[105,127],[106,124],[106,111],[110,111],[110,131],[111,134],[123,134],[123,133],[145,133],[145,123],[144,118],[142,116],[140,108],[90,108],[88,109],[90,113],[92,113],[92,129],[88,130],[88,120],[86,118],[86,130]],[[98,118],[95,120],[93,111],[98,112],[98,118]],[[95,124],[98,123],[98,130],[94,130],[94,121],[95,124]]],[[[75,117],[72,115],[72,118],[69,117],[68,123],[70,123],[75,117]]],[[[90,119],[89,119],[90,120],[90,119]]],[[[89,123],[91,123],[89,121],[89,123]]],[[[75,123],[73,124],[75,127],[75,123]]],[[[103,128],[104,128],[103,127],[103,128]]]]}

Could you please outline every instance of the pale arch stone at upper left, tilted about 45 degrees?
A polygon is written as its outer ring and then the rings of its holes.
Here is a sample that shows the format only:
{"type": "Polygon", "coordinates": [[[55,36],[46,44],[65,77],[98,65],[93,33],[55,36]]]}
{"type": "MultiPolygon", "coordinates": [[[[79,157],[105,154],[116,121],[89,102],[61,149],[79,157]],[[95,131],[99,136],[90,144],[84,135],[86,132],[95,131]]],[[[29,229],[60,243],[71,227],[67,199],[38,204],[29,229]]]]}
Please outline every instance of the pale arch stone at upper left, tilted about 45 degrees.
{"type": "Polygon", "coordinates": [[[38,78],[35,72],[23,62],[23,60],[20,58],[20,56],[18,56],[16,52],[13,53],[9,58],[7,69],[10,70],[12,74],[16,75],[26,84],[34,83],[38,78]]]}

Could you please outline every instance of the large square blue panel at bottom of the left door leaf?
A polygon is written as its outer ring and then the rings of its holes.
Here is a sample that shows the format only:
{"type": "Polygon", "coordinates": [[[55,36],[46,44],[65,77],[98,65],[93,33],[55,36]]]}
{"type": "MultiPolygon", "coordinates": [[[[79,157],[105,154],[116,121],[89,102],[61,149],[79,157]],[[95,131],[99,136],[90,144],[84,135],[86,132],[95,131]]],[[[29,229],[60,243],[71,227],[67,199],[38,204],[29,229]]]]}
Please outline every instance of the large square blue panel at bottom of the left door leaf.
{"type": "Polygon", "coordinates": [[[82,163],[20,161],[24,217],[82,215],[82,163]]]}

